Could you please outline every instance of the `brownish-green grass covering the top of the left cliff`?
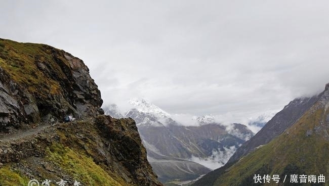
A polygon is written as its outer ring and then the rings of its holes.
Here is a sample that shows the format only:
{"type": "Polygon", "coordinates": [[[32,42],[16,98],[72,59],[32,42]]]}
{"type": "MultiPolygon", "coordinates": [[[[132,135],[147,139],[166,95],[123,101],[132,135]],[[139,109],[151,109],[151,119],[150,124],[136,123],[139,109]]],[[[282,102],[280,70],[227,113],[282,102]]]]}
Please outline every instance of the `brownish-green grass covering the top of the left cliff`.
{"type": "MultiPolygon", "coordinates": [[[[56,75],[64,77],[63,71],[52,56],[53,50],[61,52],[46,44],[0,39],[0,66],[11,76],[11,79],[28,86],[31,92],[43,97],[47,97],[48,94],[57,94],[60,90],[58,82],[50,78],[49,74],[38,70],[37,67],[37,63],[45,64],[54,70],[56,75]]],[[[58,56],[69,66],[66,59],[58,56]]]]}

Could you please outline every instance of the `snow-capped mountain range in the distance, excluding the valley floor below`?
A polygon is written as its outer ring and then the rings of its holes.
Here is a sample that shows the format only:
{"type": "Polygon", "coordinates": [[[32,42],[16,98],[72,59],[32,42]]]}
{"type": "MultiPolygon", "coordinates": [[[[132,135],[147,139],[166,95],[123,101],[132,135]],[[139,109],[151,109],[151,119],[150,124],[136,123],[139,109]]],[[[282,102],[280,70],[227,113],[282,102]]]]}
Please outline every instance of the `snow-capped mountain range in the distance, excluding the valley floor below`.
{"type": "Polygon", "coordinates": [[[207,158],[214,150],[225,151],[225,148],[232,146],[237,148],[253,135],[242,124],[224,126],[216,123],[215,116],[211,114],[194,116],[191,122],[197,122],[197,126],[183,126],[168,112],[146,99],[134,98],[130,100],[130,104],[134,108],[125,116],[136,121],[144,143],[152,146],[153,154],[156,149],[157,154],[175,158],[207,158]]]}

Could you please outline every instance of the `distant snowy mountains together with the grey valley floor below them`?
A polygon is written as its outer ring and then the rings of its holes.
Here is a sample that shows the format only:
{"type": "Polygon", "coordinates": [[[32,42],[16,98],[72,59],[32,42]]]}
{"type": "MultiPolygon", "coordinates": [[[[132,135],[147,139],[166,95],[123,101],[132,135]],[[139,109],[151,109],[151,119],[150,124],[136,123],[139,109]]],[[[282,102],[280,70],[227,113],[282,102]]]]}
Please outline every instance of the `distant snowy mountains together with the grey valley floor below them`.
{"type": "MultiPolygon", "coordinates": [[[[235,150],[254,133],[245,125],[216,123],[214,116],[194,117],[197,126],[183,126],[145,99],[132,99],[125,117],[136,121],[148,161],[161,182],[190,180],[223,166],[235,150]],[[208,168],[207,168],[207,167],[208,168]]],[[[106,114],[124,117],[115,105],[106,114]]]]}

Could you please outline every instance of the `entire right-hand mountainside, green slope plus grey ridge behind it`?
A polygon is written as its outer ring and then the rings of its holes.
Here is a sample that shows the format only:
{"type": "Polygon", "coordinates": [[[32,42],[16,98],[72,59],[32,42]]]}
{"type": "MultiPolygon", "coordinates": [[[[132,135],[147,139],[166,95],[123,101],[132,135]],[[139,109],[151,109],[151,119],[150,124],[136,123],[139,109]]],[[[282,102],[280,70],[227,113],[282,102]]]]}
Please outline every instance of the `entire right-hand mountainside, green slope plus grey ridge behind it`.
{"type": "MultiPolygon", "coordinates": [[[[319,95],[291,101],[239,147],[225,166],[193,185],[253,185],[255,174],[278,175],[279,183],[271,179],[266,185],[327,185],[318,178],[329,176],[328,108],[329,83],[319,95]],[[292,175],[297,175],[298,183],[291,183],[292,175]],[[301,175],[315,176],[316,181],[301,182],[301,175]]],[[[256,185],[264,185],[264,180],[256,185]]]]}

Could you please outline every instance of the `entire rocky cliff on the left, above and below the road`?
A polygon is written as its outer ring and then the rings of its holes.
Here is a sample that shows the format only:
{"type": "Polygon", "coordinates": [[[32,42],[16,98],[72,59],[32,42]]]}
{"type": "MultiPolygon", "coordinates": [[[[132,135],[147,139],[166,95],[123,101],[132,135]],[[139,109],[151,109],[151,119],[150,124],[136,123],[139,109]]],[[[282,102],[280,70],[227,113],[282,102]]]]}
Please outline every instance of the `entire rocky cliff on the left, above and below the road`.
{"type": "Polygon", "coordinates": [[[102,115],[97,85],[70,54],[0,39],[0,99],[0,185],[161,185],[135,121],[102,115]],[[78,121],[56,122],[64,114],[78,121]]]}

